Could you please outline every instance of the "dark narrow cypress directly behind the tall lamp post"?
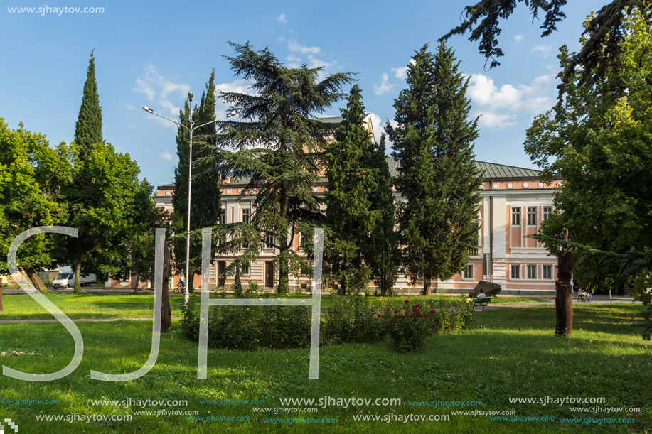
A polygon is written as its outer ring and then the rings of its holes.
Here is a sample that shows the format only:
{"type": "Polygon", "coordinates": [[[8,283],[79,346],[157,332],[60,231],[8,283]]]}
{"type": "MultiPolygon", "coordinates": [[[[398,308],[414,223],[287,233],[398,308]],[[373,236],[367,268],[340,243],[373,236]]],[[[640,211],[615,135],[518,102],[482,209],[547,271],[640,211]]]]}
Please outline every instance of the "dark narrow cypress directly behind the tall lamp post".
{"type": "MultiPolygon", "coordinates": [[[[189,125],[191,107],[186,101],[183,111],[179,112],[179,122],[189,125]]],[[[198,107],[193,108],[193,124],[201,125],[215,121],[215,70],[211,72],[210,79],[203,92],[198,107]]],[[[179,128],[176,136],[176,153],[179,158],[174,170],[174,196],[172,205],[173,230],[176,234],[185,234],[188,223],[188,158],[190,156],[188,131],[179,128]]],[[[206,174],[203,167],[198,164],[201,158],[213,153],[216,136],[215,124],[209,124],[196,129],[193,133],[193,186],[191,200],[191,231],[210,227],[217,224],[222,212],[220,202],[220,176],[206,174]]],[[[186,238],[175,239],[175,264],[180,270],[186,269],[186,238]]],[[[212,244],[213,254],[217,245],[212,244]]],[[[191,276],[186,276],[188,288],[193,289],[193,276],[201,273],[201,237],[191,237],[191,276]]]]}

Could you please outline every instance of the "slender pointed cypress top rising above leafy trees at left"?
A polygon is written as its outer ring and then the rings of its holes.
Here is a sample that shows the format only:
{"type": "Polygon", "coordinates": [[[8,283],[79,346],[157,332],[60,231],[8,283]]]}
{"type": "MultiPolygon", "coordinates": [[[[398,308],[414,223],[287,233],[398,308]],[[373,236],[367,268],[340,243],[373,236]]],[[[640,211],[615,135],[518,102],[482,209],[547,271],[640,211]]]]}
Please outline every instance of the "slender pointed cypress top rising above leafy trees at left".
{"type": "Polygon", "coordinates": [[[86,70],[86,82],[84,83],[84,94],[82,105],[79,108],[77,124],[75,125],[75,143],[79,146],[79,158],[85,160],[90,153],[94,143],[102,143],[102,107],[100,107],[100,95],[97,94],[97,82],[95,81],[95,57],[90,52],[88,69],[86,70]]]}

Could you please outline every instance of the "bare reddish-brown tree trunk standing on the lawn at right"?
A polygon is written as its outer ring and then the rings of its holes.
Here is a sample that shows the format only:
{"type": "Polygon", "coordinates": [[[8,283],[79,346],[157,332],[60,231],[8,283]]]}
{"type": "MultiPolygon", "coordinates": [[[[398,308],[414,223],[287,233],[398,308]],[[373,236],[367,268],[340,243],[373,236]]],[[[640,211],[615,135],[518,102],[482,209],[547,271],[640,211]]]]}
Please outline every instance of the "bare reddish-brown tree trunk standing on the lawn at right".
{"type": "Polygon", "coordinates": [[[570,337],[573,332],[573,298],[571,271],[575,265],[575,255],[572,251],[562,249],[557,261],[557,281],[555,288],[555,313],[557,315],[557,325],[555,327],[556,336],[570,337]]]}

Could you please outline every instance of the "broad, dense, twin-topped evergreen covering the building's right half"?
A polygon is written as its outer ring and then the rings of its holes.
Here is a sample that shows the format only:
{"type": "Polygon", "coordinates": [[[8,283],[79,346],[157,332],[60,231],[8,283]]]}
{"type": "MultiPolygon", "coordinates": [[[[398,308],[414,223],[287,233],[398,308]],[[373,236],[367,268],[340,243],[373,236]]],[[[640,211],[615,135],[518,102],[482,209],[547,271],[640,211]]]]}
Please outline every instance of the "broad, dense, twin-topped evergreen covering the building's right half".
{"type": "Polygon", "coordinates": [[[443,43],[424,45],[407,69],[407,89],[395,99],[397,126],[387,124],[400,162],[395,185],[407,199],[400,228],[410,281],[423,294],[464,268],[476,243],[482,183],[474,166],[477,119],[469,120],[468,80],[443,43]]]}

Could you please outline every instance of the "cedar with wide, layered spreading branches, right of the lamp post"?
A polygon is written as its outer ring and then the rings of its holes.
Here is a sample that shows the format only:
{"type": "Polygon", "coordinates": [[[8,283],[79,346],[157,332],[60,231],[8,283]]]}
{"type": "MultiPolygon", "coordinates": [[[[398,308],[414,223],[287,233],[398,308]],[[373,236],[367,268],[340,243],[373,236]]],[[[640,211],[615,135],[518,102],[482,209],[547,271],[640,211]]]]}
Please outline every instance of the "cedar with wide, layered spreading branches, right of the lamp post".
{"type": "MultiPolygon", "coordinates": [[[[231,69],[252,80],[256,94],[220,92],[240,116],[238,121],[222,122],[227,130],[220,143],[239,151],[216,153],[212,166],[221,173],[226,161],[232,174],[250,176],[245,191],[256,192],[250,224],[260,239],[273,237],[269,244],[279,251],[277,292],[285,293],[290,272],[309,272],[292,249],[294,234],[320,217],[312,188],[319,183],[322,158],[317,151],[326,144],[328,128],[314,114],[343,97],[342,85],[353,78],[337,73],[318,82],[324,67],[288,68],[268,48],[255,51],[249,43],[230,46],[236,53],[227,57],[231,69]]],[[[257,249],[257,244],[250,249],[257,249]]]]}

